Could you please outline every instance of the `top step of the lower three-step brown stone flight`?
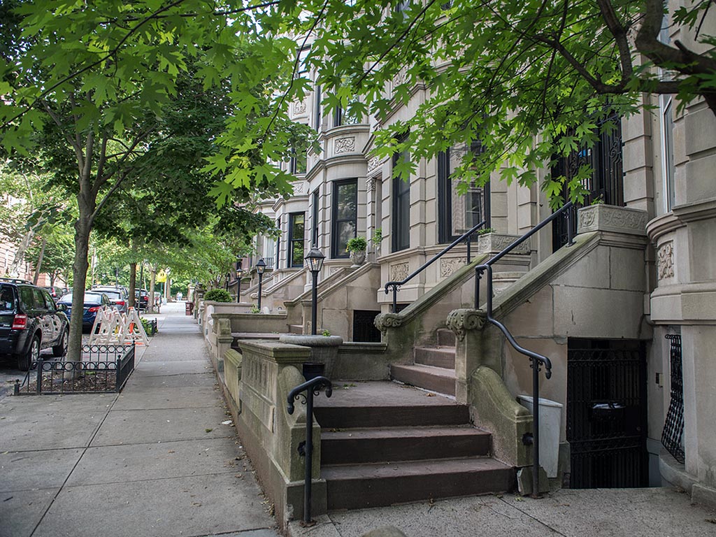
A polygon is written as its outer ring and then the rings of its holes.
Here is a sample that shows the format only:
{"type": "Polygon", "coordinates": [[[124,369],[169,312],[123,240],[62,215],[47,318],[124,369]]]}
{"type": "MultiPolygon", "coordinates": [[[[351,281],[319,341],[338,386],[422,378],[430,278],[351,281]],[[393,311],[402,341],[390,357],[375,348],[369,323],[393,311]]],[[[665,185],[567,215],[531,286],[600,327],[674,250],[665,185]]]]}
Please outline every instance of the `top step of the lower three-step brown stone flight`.
{"type": "Polygon", "coordinates": [[[314,416],[323,429],[465,425],[470,422],[467,405],[334,405],[314,407],[314,416]]]}

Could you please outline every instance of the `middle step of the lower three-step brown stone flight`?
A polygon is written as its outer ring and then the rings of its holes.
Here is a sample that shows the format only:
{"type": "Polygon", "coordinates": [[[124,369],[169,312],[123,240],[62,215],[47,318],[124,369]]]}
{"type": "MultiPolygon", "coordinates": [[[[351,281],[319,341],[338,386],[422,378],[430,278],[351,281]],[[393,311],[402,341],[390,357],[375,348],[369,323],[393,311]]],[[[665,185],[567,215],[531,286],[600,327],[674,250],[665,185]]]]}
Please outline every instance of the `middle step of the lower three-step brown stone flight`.
{"type": "Polygon", "coordinates": [[[321,465],[477,457],[489,452],[490,433],[471,425],[321,430],[321,465]]]}

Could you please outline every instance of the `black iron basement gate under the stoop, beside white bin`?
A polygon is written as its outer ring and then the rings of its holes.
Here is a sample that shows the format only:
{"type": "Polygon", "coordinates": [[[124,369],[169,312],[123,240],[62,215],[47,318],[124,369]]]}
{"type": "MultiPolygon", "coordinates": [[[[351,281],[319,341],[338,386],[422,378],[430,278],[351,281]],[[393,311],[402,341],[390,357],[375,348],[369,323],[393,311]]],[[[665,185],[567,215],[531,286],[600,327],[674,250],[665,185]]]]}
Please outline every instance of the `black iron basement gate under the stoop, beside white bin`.
{"type": "Polygon", "coordinates": [[[642,342],[569,339],[567,440],[572,488],[649,484],[642,342]]]}

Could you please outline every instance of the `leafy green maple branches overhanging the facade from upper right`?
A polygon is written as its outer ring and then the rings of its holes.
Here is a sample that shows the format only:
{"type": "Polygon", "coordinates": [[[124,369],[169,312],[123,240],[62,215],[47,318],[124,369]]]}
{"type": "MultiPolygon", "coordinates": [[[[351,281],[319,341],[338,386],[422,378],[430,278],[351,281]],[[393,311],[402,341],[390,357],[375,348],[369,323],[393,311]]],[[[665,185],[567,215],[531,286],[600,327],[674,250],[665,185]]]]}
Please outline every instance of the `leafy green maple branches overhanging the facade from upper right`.
{"type": "MultiPolygon", "coordinates": [[[[593,145],[613,112],[643,110],[642,92],[676,94],[682,107],[703,98],[716,114],[710,6],[696,0],[669,14],[664,34],[681,32],[673,42],[660,39],[662,0],[309,0],[301,9],[311,16],[285,19],[284,29],[308,32],[320,19],[308,62],[326,107],[384,124],[395,105],[426,87],[426,102],[380,131],[373,154],[409,150],[397,176],[420,158],[480,140],[485,150],[466,153],[456,173],[467,188],[495,172],[534,183],[536,170],[593,145]]],[[[572,198],[584,194],[587,173],[571,181],[572,198]]],[[[548,178],[543,188],[556,198],[563,180],[548,178]]]]}

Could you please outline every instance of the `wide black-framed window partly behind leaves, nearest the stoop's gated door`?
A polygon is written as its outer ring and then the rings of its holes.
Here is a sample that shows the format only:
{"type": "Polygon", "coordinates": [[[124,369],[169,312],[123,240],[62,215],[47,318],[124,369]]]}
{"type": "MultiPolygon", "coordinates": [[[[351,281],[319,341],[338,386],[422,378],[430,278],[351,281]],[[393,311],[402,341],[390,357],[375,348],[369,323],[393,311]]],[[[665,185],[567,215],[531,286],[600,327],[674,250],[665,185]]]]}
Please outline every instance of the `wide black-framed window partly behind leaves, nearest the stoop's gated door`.
{"type": "Polygon", "coordinates": [[[485,221],[490,227],[490,183],[484,186],[468,185],[460,193],[458,180],[453,178],[455,169],[463,163],[468,153],[472,156],[483,153],[483,145],[475,140],[469,146],[460,144],[451,147],[437,158],[438,182],[438,231],[440,243],[450,243],[460,235],[485,221]]]}

